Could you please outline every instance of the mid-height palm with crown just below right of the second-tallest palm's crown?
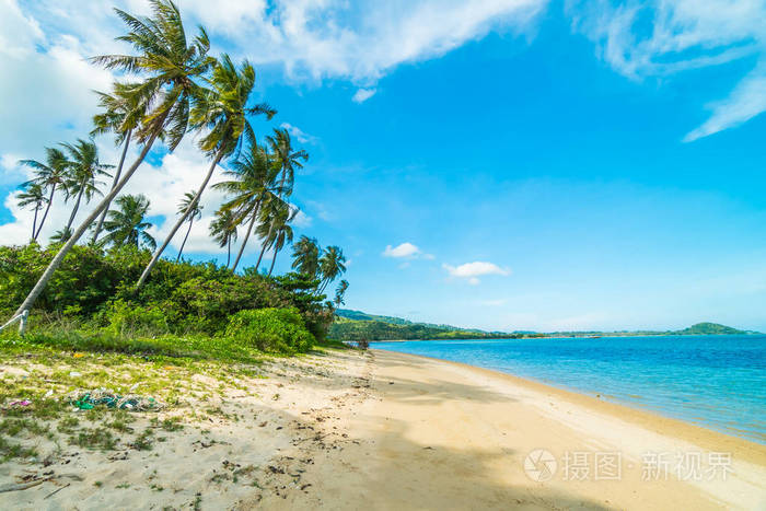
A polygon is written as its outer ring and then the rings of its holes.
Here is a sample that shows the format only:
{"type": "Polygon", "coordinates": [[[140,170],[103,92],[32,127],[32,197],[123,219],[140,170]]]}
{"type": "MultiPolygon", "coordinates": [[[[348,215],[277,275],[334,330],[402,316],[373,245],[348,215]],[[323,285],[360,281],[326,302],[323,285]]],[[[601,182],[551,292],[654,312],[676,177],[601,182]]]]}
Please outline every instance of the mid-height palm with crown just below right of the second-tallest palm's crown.
{"type": "Polygon", "coordinates": [[[247,222],[245,237],[242,240],[240,252],[234,259],[234,266],[232,266],[232,271],[234,271],[245,252],[253,227],[258,219],[260,206],[279,195],[280,188],[277,185],[277,178],[280,171],[275,160],[254,143],[251,143],[246,154],[242,154],[231,166],[230,171],[224,172],[224,175],[231,179],[217,183],[214,187],[233,196],[221,208],[234,212],[240,223],[247,222]]]}

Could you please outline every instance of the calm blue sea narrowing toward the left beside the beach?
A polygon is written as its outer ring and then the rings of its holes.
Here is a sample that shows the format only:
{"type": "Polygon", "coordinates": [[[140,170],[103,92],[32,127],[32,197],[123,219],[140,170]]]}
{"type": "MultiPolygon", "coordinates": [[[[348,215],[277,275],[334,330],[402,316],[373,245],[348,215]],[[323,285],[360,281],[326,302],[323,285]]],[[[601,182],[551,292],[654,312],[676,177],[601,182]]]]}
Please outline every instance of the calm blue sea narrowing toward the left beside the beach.
{"type": "Polygon", "coordinates": [[[534,379],[766,443],[766,336],[373,342],[534,379]]]}

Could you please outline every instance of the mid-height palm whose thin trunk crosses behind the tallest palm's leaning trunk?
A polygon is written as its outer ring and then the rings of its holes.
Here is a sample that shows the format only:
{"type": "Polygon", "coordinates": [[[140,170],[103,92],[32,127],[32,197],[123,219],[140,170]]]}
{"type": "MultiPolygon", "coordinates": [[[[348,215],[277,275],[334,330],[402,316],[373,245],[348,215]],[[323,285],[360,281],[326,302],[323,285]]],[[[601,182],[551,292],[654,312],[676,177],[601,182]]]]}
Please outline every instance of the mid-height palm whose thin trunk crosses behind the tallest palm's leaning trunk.
{"type": "MultiPolygon", "coordinates": [[[[130,137],[132,136],[134,129],[139,126],[147,106],[139,102],[137,95],[131,95],[129,93],[135,85],[115,82],[113,86],[114,94],[96,92],[100,98],[98,105],[103,108],[103,112],[93,117],[93,125],[95,127],[91,131],[92,137],[113,132],[115,133],[115,146],[123,144],[123,153],[119,156],[119,163],[117,164],[117,170],[112,181],[112,189],[119,183],[119,177],[123,174],[123,165],[125,165],[125,156],[130,147],[130,137]]],[[[91,243],[95,243],[98,240],[98,234],[101,233],[111,204],[112,202],[108,201],[101,212],[98,223],[96,223],[95,230],[93,231],[91,243]]]]}

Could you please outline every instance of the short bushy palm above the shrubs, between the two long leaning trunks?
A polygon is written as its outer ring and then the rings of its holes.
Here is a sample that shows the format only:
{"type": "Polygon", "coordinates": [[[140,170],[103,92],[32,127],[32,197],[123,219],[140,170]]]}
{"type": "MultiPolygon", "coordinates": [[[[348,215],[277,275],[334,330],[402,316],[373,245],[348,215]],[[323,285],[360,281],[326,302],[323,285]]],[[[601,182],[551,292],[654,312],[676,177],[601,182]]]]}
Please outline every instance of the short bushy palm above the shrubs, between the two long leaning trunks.
{"type": "Polygon", "coordinates": [[[131,245],[136,248],[144,246],[154,249],[156,242],[147,232],[152,224],[146,221],[149,211],[149,199],[143,195],[123,195],[117,197],[115,204],[119,209],[112,209],[104,222],[106,236],[104,242],[119,247],[131,245]]]}

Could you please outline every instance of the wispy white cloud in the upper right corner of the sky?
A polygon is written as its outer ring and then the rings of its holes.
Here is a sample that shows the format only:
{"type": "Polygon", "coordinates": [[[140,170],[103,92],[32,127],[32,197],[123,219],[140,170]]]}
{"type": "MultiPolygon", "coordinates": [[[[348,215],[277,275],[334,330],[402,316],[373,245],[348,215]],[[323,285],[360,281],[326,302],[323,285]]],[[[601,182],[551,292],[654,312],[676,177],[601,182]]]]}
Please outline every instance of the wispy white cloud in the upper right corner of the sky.
{"type": "Polygon", "coordinates": [[[762,0],[654,0],[617,5],[608,0],[571,0],[568,10],[574,27],[596,43],[600,57],[634,79],[662,78],[755,57],[755,68],[727,98],[712,103],[710,118],[684,141],[735,127],[766,111],[766,4],[762,0]]]}

